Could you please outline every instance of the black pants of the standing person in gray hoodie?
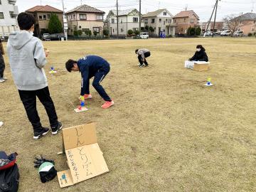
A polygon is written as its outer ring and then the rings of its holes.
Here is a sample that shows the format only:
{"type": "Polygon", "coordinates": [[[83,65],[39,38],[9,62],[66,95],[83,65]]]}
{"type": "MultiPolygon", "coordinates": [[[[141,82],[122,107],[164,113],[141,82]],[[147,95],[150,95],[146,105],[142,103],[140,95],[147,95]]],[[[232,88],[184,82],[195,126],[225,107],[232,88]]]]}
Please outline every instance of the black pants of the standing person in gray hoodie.
{"type": "Polygon", "coordinates": [[[50,127],[58,126],[58,117],[55,112],[53,100],[50,98],[48,87],[45,87],[41,90],[32,91],[18,90],[18,93],[21,97],[21,101],[25,107],[26,114],[28,115],[28,119],[31,122],[35,133],[41,132],[42,128],[40,117],[38,116],[38,112],[36,110],[36,96],[46,108],[46,112],[50,120],[50,127]]]}

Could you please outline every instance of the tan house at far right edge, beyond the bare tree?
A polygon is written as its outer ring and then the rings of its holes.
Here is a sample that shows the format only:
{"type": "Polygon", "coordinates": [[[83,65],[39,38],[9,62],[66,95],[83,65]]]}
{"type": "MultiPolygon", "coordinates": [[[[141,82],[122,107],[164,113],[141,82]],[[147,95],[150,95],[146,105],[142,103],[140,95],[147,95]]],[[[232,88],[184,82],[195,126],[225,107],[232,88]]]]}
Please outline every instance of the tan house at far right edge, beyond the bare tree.
{"type": "Polygon", "coordinates": [[[239,23],[238,31],[243,31],[244,35],[248,35],[249,33],[255,33],[256,28],[256,14],[254,13],[247,13],[238,16],[237,18],[239,23]]]}

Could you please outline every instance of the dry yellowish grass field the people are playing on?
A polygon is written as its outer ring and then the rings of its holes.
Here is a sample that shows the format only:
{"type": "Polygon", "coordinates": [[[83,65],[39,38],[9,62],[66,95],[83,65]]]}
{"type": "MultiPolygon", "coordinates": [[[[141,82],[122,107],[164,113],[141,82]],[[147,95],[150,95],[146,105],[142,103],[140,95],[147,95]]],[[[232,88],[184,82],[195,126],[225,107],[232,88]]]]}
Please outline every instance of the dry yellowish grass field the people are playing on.
{"type": "MultiPolygon", "coordinates": [[[[59,73],[48,76],[50,93],[64,127],[97,122],[97,137],[110,173],[60,189],[55,178],[41,183],[33,157],[68,168],[62,134],[33,140],[8,59],[0,84],[0,149],[17,151],[20,191],[256,191],[256,38],[172,38],[129,41],[46,42],[59,73]],[[197,44],[210,58],[208,72],[183,68],[197,44]],[[149,48],[149,68],[138,68],[136,48],[149,48]],[[111,63],[102,82],[114,107],[91,87],[88,112],[76,114],[80,73],[65,61],[95,54],[111,63]],[[205,87],[206,78],[215,86],[205,87]],[[72,104],[73,103],[73,104],[72,104]]],[[[38,102],[41,122],[48,117],[38,102]]]]}

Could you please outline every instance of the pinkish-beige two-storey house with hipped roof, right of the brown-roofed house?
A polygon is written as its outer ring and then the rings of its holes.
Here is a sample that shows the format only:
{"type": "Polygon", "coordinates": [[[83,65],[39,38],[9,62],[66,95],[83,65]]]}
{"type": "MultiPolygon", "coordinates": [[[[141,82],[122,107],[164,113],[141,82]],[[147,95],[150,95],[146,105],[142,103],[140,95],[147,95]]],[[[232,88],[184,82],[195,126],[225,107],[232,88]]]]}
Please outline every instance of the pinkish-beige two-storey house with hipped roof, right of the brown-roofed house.
{"type": "Polygon", "coordinates": [[[97,31],[103,34],[103,16],[105,12],[91,6],[81,5],[66,12],[68,18],[68,35],[73,35],[74,31],[97,31]]]}

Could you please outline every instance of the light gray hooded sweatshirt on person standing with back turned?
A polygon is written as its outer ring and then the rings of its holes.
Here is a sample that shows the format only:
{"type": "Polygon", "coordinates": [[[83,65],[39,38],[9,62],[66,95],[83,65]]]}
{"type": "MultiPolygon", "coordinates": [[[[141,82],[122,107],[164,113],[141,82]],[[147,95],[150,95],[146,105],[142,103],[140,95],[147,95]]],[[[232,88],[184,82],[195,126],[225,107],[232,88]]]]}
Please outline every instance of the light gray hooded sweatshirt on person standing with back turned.
{"type": "Polygon", "coordinates": [[[48,86],[43,70],[47,63],[46,55],[40,39],[28,31],[11,33],[7,52],[18,90],[41,90],[48,86]]]}

